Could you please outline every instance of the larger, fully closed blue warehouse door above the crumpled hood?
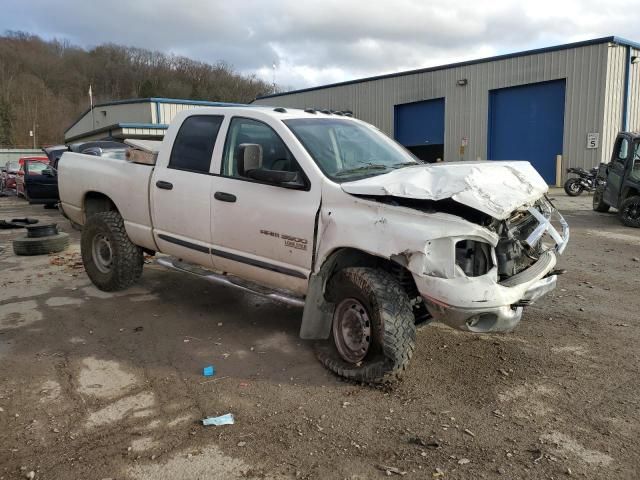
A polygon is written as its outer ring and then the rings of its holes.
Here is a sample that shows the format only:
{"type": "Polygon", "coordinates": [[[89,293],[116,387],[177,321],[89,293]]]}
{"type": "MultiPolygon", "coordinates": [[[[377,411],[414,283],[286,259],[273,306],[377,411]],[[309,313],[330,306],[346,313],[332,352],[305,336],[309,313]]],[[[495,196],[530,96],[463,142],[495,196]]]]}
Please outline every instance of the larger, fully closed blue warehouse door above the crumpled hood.
{"type": "Polygon", "coordinates": [[[528,160],[548,184],[562,155],[565,80],[489,92],[489,160],[528,160]]]}

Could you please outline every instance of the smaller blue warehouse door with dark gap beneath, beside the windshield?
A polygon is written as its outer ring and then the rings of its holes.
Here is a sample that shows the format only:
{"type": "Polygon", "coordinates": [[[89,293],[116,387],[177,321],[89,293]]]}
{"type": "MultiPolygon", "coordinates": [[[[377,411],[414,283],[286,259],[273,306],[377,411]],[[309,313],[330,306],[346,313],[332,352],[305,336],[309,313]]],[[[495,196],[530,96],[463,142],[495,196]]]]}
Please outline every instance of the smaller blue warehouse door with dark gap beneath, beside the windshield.
{"type": "Polygon", "coordinates": [[[444,98],[395,106],[394,134],[402,145],[423,160],[444,155],[444,98]]]}

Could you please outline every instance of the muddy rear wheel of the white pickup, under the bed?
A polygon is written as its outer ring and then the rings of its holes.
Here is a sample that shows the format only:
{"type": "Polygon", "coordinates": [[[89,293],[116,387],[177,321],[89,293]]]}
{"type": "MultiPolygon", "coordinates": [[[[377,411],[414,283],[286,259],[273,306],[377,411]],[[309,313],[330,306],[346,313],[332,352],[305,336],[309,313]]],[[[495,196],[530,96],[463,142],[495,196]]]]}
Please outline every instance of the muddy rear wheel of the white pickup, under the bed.
{"type": "Polygon", "coordinates": [[[142,275],[142,250],[129,240],[118,212],[89,217],[82,229],[80,249],[87,275],[100,290],[124,290],[142,275]]]}

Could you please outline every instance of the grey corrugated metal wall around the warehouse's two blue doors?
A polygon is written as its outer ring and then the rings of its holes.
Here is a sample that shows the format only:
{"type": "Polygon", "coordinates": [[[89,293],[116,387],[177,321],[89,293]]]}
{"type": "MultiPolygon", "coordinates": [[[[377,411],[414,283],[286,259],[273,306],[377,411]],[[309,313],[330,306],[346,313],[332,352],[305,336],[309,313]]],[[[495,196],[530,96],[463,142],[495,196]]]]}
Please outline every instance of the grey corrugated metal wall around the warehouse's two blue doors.
{"type": "MultiPolygon", "coordinates": [[[[390,77],[309,92],[293,93],[254,103],[284,107],[352,110],[357,118],[393,135],[393,106],[445,97],[445,160],[458,160],[463,137],[469,143],[464,158],[486,158],[489,91],[533,82],[566,78],[564,166],[595,166],[610,149],[612,127],[603,135],[607,61],[615,50],[606,43],[512,57],[433,72],[390,77]],[[456,81],[468,80],[466,86],[456,81]],[[587,149],[587,133],[601,134],[600,147],[587,149]]],[[[615,83],[615,82],[614,82],[615,83]]],[[[611,85],[611,91],[615,85],[611,85]]],[[[611,92],[610,92],[611,93],[611,92]]],[[[607,107],[613,115],[614,102],[607,107]]],[[[613,125],[610,123],[610,125],[613,125]]],[[[560,153],[560,152],[558,152],[560,153]]]]}

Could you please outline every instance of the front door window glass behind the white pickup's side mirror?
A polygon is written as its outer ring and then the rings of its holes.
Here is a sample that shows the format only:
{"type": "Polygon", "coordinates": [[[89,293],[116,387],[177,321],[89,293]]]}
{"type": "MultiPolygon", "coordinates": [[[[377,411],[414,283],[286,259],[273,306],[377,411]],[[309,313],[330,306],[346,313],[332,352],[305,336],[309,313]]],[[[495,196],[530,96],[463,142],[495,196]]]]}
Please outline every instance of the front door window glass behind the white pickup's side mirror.
{"type": "Polygon", "coordinates": [[[222,175],[242,178],[238,173],[238,157],[242,153],[239,147],[243,144],[260,145],[262,169],[298,173],[297,179],[289,184],[303,184],[302,169],[278,134],[262,122],[241,117],[233,118],[229,125],[222,160],[222,175]]]}

